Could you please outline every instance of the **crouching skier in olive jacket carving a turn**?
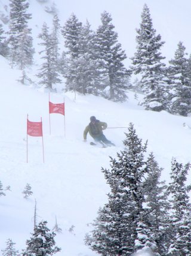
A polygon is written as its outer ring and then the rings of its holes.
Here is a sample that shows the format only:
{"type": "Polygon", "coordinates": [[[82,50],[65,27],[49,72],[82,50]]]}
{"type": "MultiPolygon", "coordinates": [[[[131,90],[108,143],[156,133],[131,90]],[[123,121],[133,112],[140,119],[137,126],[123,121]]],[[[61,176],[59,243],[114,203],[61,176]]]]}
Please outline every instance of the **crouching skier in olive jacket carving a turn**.
{"type": "Polygon", "coordinates": [[[98,143],[106,144],[108,146],[115,146],[110,140],[107,140],[106,136],[103,134],[103,129],[107,128],[105,122],[100,122],[95,116],[91,116],[90,124],[84,130],[84,142],[87,141],[87,134],[90,133],[91,137],[94,138],[98,143]]]}

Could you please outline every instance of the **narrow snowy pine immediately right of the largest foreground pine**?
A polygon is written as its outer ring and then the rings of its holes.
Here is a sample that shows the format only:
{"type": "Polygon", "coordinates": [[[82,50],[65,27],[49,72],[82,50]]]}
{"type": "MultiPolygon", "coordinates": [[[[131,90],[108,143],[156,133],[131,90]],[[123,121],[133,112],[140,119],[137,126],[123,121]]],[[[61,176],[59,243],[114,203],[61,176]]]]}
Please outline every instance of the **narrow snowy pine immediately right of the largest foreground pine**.
{"type": "Polygon", "coordinates": [[[155,240],[155,252],[161,256],[167,255],[170,242],[170,203],[168,202],[167,185],[161,181],[161,171],[153,153],[147,159],[148,176],[144,181],[144,194],[146,195],[145,211],[147,225],[155,240]]]}

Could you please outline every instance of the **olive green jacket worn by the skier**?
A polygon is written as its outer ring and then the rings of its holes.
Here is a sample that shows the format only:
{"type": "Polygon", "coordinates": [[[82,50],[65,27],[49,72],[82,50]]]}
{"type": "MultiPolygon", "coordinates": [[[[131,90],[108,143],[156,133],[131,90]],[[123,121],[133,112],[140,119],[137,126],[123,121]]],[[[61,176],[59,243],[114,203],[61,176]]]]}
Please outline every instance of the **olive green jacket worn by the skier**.
{"type": "Polygon", "coordinates": [[[105,122],[100,122],[96,120],[96,124],[90,123],[84,130],[84,140],[87,139],[88,132],[90,133],[91,137],[96,138],[103,134],[103,129],[107,128],[107,124],[105,122]]]}

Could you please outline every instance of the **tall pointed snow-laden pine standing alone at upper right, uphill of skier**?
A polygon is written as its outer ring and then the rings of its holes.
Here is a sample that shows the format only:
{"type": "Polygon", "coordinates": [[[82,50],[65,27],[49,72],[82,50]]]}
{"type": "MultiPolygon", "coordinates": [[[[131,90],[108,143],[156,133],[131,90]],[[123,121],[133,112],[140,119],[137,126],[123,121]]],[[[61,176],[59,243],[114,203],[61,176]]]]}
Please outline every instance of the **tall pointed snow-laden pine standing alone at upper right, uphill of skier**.
{"type": "Polygon", "coordinates": [[[140,28],[137,31],[137,52],[133,60],[133,71],[141,74],[141,87],[144,100],[141,104],[146,110],[161,111],[167,108],[166,85],[164,82],[164,57],[161,56],[161,35],[156,35],[152,18],[146,4],[141,13],[140,28]]]}

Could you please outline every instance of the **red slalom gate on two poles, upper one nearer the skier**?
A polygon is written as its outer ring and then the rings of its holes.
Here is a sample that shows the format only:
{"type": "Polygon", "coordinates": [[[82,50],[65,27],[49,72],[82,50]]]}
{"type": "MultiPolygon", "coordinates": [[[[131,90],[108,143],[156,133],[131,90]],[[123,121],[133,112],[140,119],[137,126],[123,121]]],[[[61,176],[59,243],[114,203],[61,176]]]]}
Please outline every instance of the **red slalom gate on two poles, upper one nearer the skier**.
{"type": "Polygon", "coordinates": [[[51,122],[50,122],[50,114],[57,113],[64,116],[64,137],[66,137],[66,125],[65,125],[65,103],[51,103],[50,94],[49,94],[49,127],[51,134],[51,122]]]}

